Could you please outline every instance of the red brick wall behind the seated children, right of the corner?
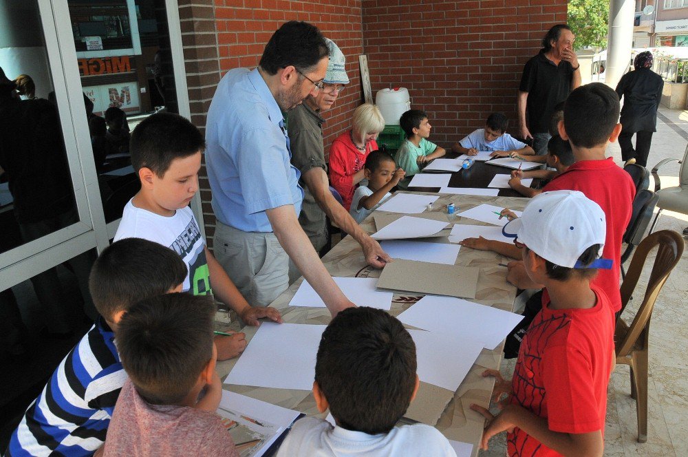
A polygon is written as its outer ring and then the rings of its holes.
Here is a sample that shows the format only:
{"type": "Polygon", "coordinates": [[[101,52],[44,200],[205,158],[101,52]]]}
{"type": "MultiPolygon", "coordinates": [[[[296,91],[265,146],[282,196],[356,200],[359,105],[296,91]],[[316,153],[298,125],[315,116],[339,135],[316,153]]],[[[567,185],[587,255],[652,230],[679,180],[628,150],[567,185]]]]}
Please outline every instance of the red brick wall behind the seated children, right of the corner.
{"type": "Polygon", "coordinates": [[[449,147],[493,111],[517,130],[523,65],[566,0],[363,0],[363,47],[373,94],[407,87],[411,107],[427,111],[431,140],[449,147]]]}

